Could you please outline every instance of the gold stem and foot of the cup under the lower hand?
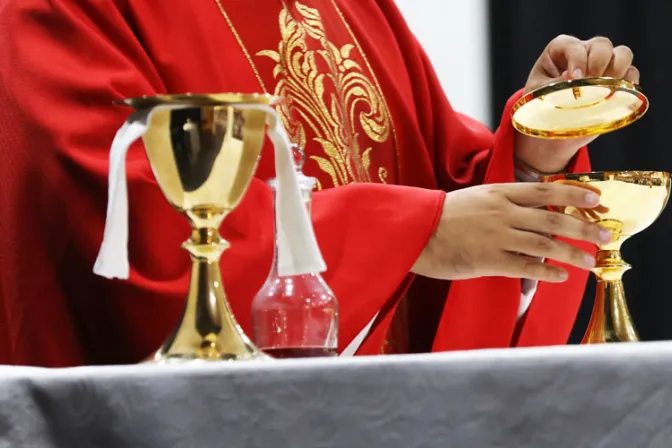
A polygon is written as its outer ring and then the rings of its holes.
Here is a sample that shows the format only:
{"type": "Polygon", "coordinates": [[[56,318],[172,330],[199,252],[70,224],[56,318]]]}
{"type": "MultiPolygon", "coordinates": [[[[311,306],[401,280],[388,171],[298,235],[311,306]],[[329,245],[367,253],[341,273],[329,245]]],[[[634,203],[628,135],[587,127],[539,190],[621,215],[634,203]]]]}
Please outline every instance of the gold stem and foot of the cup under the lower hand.
{"type": "Polygon", "coordinates": [[[614,250],[600,251],[597,260],[598,266],[593,269],[597,278],[595,304],[582,344],[639,341],[622,281],[630,265],[623,261],[620,251],[614,250]]]}

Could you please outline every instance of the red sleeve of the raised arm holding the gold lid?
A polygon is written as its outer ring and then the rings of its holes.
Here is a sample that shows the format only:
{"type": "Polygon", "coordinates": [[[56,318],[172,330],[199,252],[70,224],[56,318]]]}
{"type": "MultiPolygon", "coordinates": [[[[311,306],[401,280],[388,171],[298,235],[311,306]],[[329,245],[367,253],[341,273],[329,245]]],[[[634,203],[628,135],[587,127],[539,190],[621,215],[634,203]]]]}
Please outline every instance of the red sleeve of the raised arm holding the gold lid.
{"type": "MultiPolygon", "coordinates": [[[[516,131],[511,114],[522,91],[510,98],[493,134],[482,123],[452,108],[429,58],[394,2],[383,1],[379,5],[393,28],[413,80],[417,121],[433,156],[439,188],[452,191],[483,183],[515,182],[516,131]]],[[[581,149],[568,170],[590,171],[586,148],[581,149]]],[[[567,242],[595,251],[590,244],[567,242]]],[[[588,272],[563,267],[568,269],[569,279],[562,284],[539,285],[517,333],[519,280],[489,277],[440,282],[417,278],[408,292],[411,332],[430,334],[434,338],[433,351],[564,344],[573,327],[588,272]]],[[[371,338],[382,340],[384,334],[374,333],[371,338]]]]}

